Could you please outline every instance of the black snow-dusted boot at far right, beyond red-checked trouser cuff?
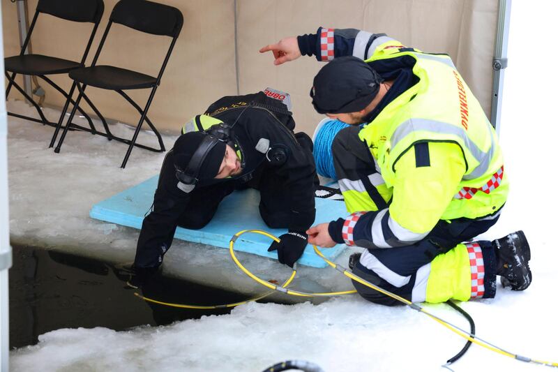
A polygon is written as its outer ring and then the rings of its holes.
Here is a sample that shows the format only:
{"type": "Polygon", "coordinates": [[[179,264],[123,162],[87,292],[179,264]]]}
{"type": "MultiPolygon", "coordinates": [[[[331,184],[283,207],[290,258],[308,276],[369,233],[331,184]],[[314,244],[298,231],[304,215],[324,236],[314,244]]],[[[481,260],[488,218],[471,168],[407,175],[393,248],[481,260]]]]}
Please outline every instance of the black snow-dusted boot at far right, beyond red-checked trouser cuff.
{"type": "Polygon", "coordinates": [[[511,290],[525,290],[531,284],[532,275],[529,269],[531,250],[525,234],[519,230],[506,237],[492,241],[497,257],[496,274],[501,276],[504,287],[511,290]]]}

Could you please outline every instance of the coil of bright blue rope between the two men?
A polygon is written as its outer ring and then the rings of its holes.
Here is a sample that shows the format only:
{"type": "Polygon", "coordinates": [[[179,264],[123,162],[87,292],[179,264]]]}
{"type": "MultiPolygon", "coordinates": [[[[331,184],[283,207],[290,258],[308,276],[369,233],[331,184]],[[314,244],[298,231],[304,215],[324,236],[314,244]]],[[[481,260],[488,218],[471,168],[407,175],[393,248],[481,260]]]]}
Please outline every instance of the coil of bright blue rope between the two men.
{"type": "Polygon", "coordinates": [[[333,167],[333,155],[331,154],[331,144],[333,138],[343,128],[347,128],[349,124],[345,124],[339,120],[326,121],[322,128],[315,133],[314,137],[314,161],[316,162],[316,172],[322,177],[337,179],[335,168],[333,167]]]}

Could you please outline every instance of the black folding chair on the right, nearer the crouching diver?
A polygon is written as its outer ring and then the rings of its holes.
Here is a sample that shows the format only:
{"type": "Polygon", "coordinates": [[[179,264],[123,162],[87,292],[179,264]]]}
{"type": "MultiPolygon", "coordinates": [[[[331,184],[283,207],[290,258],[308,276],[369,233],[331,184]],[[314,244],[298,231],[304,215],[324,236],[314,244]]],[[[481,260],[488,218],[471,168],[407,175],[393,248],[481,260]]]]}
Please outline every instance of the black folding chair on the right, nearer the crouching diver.
{"type": "MultiPolygon", "coordinates": [[[[98,133],[100,135],[107,135],[109,139],[112,138],[113,140],[124,142],[129,145],[128,151],[126,151],[126,156],[124,156],[124,160],[121,164],[121,168],[126,167],[126,163],[128,162],[128,158],[130,157],[130,153],[132,152],[134,146],[156,152],[165,151],[165,144],[163,144],[163,139],[157,131],[157,128],[155,128],[151,120],[149,120],[149,118],[147,117],[147,111],[149,110],[151,101],[153,101],[153,96],[155,96],[157,87],[160,84],[161,77],[163,76],[163,71],[165,70],[165,66],[167,66],[170,54],[172,52],[174,44],[176,43],[176,39],[178,38],[182,29],[182,24],[183,17],[181,11],[173,8],[172,6],[167,6],[160,3],[153,3],[146,0],[121,0],[116,3],[116,6],[114,6],[114,9],[112,10],[109,22],[107,24],[107,29],[105,29],[105,34],[103,34],[103,38],[100,41],[100,45],[97,49],[95,57],[93,58],[91,66],[85,68],[77,68],[76,70],[70,71],[70,78],[78,83],[77,89],[78,91],[80,91],[80,94],[76,98],[76,104],[79,105],[81,99],[84,98],[88,105],[91,106],[93,111],[100,118],[100,120],[103,121],[103,125],[105,126],[106,130],[107,125],[105,118],[102,114],[100,114],[99,110],[97,110],[89,97],[87,97],[85,94],[85,88],[88,85],[100,89],[109,89],[118,92],[121,96],[123,96],[123,98],[126,99],[126,101],[128,101],[128,103],[130,103],[130,105],[132,105],[137,110],[137,112],[140,113],[140,121],[137,124],[132,140],[116,137],[115,135],[110,134],[108,130],[107,134],[98,133]],[[126,70],[125,68],[119,68],[116,66],[96,66],[99,54],[103,49],[103,45],[105,44],[105,40],[113,23],[123,24],[126,27],[130,27],[138,31],[143,31],[147,34],[172,37],[169,50],[165,55],[163,66],[161,66],[157,77],[152,77],[143,73],[138,73],[133,70],[126,70]],[[137,103],[132,100],[132,98],[130,98],[130,96],[124,93],[124,90],[127,89],[148,88],[151,88],[151,94],[149,95],[149,99],[147,100],[147,103],[143,110],[139,105],[137,105],[137,103]],[[160,146],[159,149],[136,143],[137,135],[140,133],[140,129],[142,128],[142,124],[144,121],[147,122],[153,133],[155,133],[155,135],[157,136],[160,146]]],[[[75,110],[76,105],[74,106],[68,119],[68,123],[66,124],[60,140],[56,145],[56,148],[54,149],[55,152],[60,151],[62,142],[66,137],[66,133],[68,133],[68,128],[74,125],[71,124],[71,121],[74,117],[75,110]]],[[[53,135],[53,140],[56,138],[58,129],[59,128],[56,128],[56,132],[53,135]]]]}

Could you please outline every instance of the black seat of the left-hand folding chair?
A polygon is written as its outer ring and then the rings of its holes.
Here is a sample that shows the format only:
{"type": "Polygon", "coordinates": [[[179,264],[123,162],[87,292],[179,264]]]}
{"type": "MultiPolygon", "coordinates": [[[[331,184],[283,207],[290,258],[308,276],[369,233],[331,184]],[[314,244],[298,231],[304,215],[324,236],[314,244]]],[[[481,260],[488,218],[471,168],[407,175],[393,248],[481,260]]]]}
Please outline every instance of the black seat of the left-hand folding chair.
{"type": "Polygon", "coordinates": [[[24,54],[4,59],[4,68],[10,73],[24,75],[54,75],[68,73],[82,67],[82,64],[68,59],[61,59],[42,54],[24,54]]]}

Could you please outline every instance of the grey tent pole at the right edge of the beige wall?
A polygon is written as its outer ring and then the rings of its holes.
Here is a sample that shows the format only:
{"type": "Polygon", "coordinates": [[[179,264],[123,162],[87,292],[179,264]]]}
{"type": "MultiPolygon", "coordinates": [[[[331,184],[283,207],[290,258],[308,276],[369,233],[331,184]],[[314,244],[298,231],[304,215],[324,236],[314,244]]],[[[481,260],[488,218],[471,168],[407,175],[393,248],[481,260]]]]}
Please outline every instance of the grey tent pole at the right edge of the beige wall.
{"type": "Polygon", "coordinates": [[[508,36],[510,31],[511,0],[498,1],[498,25],[492,68],[492,109],[490,123],[500,132],[500,114],[502,111],[502,92],[504,90],[504,68],[508,66],[508,36]]]}

